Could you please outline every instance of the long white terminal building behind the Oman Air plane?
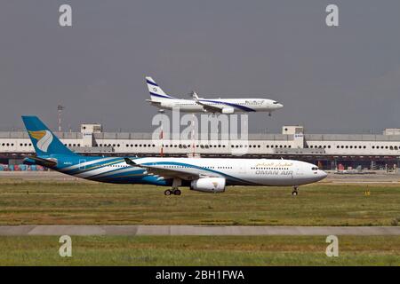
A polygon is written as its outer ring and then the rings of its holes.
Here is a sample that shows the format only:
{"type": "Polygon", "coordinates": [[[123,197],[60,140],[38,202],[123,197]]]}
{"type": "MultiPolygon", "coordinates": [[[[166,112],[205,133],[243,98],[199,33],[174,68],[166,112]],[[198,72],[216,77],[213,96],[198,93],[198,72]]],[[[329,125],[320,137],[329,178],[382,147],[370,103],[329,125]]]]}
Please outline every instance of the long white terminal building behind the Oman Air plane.
{"type": "MultiPolygon", "coordinates": [[[[400,166],[400,129],[386,129],[380,135],[306,134],[302,126],[284,126],[281,134],[205,142],[104,132],[100,124],[92,123],[82,124],[80,132],[54,133],[72,151],[88,155],[284,158],[313,162],[324,170],[400,166]]],[[[0,131],[0,163],[18,164],[29,154],[34,148],[26,131],[0,131]]]]}

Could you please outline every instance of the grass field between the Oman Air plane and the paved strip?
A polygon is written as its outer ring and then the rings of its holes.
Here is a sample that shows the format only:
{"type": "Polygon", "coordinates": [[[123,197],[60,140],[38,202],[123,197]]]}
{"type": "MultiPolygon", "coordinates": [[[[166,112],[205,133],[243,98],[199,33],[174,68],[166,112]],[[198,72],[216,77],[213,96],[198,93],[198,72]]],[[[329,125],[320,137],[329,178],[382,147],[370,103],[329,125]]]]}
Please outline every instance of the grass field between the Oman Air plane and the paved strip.
{"type": "Polygon", "coordinates": [[[152,185],[0,180],[0,225],[398,225],[399,185],[228,187],[164,196],[152,185]],[[370,196],[365,196],[368,187],[370,196]]]}

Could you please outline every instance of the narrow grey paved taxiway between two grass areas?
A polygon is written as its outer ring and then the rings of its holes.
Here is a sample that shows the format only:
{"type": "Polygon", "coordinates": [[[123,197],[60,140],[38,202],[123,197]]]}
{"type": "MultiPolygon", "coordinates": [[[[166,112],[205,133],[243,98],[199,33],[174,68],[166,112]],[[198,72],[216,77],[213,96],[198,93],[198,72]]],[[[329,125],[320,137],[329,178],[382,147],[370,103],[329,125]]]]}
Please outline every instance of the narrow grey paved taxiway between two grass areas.
{"type": "Polygon", "coordinates": [[[398,235],[400,226],[0,225],[0,235],[398,235]]]}

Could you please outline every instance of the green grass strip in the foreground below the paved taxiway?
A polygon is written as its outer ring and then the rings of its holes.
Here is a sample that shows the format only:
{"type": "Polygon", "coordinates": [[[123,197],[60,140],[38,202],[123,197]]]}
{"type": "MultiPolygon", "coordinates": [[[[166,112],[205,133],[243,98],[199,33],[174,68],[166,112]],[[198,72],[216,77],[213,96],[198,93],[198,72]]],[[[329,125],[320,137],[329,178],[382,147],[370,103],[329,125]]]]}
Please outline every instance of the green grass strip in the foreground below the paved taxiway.
{"type": "Polygon", "coordinates": [[[0,265],[400,265],[398,236],[340,236],[338,257],[324,237],[72,237],[72,257],[58,241],[0,237],[0,265]]]}

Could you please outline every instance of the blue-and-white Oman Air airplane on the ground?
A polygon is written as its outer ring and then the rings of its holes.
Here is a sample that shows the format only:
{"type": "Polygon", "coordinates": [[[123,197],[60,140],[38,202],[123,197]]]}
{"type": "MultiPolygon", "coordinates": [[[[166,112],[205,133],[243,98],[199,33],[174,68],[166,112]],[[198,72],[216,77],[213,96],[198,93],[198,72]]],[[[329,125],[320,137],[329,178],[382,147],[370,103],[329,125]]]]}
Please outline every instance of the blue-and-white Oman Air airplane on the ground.
{"type": "Polygon", "coordinates": [[[171,186],[165,195],[180,195],[180,186],[221,193],[228,185],[291,185],[297,195],[299,185],[327,176],[314,164],[283,159],[84,156],[69,150],[37,116],[22,120],[36,152],[25,164],[104,183],[171,186]]]}

